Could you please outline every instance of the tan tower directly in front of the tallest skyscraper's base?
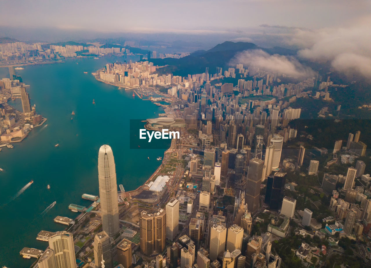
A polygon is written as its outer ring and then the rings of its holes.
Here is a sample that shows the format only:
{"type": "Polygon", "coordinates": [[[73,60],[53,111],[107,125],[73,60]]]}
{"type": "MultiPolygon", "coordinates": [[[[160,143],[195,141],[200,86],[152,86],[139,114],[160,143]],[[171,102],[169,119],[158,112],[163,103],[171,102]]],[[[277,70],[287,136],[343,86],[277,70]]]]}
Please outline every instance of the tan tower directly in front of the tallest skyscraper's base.
{"type": "Polygon", "coordinates": [[[112,247],[109,236],[105,231],[96,233],[93,241],[95,267],[102,267],[102,260],[106,268],[113,268],[112,247]]]}

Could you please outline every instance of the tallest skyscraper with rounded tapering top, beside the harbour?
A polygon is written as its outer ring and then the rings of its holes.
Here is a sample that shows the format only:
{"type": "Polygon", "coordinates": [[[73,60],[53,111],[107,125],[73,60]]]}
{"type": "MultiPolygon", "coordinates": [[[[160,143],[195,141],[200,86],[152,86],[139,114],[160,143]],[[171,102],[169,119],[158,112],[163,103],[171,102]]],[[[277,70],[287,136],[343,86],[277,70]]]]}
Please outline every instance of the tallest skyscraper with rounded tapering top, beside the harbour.
{"type": "Polygon", "coordinates": [[[99,197],[102,228],[110,237],[119,231],[116,167],[111,147],[102,145],[98,154],[99,197]]]}

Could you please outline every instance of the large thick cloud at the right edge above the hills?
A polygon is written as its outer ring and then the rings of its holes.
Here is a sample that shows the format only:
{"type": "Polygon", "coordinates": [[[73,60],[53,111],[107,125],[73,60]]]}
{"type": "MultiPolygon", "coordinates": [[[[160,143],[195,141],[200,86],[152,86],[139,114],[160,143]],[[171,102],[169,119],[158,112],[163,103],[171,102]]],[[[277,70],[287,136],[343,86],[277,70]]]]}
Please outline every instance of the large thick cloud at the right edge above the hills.
{"type": "Polygon", "coordinates": [[[349,27],[307,31],[298,29],[288,40],[300,48],[298,56],[330,62],[337,71],[371,78],[371,17],[349,27]]]}

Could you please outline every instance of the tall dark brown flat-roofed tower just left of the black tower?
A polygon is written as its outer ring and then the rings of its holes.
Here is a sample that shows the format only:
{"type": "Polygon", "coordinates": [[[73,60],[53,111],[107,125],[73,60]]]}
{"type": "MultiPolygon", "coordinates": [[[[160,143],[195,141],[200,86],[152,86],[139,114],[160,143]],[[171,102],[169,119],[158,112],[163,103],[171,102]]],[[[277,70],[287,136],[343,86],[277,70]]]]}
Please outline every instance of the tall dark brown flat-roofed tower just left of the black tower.
{"type": "Polygon", "coordinates": [[[246,180],[247,209],[255,213],[259,209],[260,185],[262,183],[264,161],[254,158],[250,161],[246,180]]]}

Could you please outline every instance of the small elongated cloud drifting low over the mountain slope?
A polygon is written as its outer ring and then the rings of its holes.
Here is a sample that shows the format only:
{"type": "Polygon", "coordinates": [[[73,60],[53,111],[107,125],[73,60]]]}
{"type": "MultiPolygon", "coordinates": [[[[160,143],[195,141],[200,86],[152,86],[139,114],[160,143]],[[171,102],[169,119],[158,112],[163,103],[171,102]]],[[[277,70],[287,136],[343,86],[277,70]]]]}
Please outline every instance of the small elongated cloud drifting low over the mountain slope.
{"type": "Polygon", "coordinates": [[[243,63],[244,66],[254,66],[267,72],[284,73],[291,76],[313,76],[313,70],[303,66],[296,58],[278,54],[269,55],[261,49],[245,50],[237,53],[230,65],[243,63]]]}

